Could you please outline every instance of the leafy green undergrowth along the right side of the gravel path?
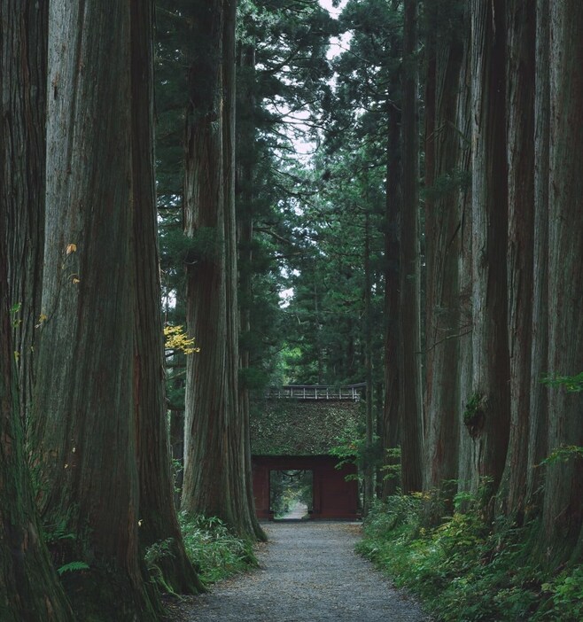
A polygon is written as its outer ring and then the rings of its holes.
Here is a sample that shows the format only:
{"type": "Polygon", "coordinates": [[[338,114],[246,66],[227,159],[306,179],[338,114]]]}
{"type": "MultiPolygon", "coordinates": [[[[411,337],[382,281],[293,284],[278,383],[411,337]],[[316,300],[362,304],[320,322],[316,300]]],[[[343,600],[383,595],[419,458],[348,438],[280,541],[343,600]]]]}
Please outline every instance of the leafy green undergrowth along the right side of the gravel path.
{"type": "Polygon", "coordinates": [[[444,622],[583,619],[583,567],[541,570],[532,559],[536,523],[488,525],[463,494],[449,516],[427,526],[434,501],[418,494],[379,502],[358,551],[444,622]]]}

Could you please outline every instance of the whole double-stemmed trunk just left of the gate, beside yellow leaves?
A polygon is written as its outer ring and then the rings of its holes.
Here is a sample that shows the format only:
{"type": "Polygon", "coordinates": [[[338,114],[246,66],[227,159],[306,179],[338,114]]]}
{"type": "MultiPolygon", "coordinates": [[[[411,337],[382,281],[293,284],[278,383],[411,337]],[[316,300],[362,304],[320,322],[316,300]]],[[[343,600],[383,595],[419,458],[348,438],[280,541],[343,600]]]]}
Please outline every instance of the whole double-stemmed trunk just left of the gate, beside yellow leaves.
{"type": "Polygon", "coordinates": [[[253,537],[247,432],[237,404],[235,11],[234,0],[192,4],[184,229],[197,245],[188,268],[187,323],[200,353],[187,369],[183,509],[221,517],[253,537]]]}

